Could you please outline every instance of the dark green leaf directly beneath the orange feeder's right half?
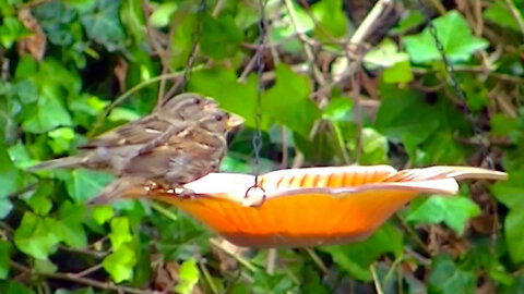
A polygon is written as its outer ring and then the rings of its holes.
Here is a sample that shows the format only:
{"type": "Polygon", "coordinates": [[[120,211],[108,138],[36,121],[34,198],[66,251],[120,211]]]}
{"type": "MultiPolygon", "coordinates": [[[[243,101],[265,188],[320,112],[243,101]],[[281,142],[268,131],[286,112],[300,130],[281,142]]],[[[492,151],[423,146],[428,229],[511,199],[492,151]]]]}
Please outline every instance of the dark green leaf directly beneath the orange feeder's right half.
{"type": "Polygon", "coordinates": [[[403,246],[402,235],[386,223],[366,241],[350,245],[321,246],[319,249],[330,254],[333,261],[352,277],[371,281],[369,266],[385,253],[400,257],[403,246]]]}

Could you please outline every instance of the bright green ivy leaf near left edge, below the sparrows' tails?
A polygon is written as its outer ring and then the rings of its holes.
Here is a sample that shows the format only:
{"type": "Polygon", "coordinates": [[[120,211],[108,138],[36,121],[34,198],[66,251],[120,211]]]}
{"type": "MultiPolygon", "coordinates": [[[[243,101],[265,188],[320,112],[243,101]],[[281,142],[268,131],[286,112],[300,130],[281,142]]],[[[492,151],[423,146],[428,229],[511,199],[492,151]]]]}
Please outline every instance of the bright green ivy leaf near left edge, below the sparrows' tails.
{"type": "Polygon", "coordinates": [[[14,232],[14,244],[21,252],[34,258],[46,259],[57,250],[60,242],[52,224],[32,212],[25,212],[14,232]]]}

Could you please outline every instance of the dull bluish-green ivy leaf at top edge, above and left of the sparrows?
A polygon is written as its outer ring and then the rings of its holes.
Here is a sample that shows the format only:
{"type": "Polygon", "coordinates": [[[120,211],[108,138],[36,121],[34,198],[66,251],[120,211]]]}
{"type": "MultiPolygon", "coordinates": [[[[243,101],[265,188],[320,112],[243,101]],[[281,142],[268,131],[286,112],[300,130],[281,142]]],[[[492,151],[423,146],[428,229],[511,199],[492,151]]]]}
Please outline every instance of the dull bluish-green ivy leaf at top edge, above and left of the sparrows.
{"type": "Polygon", "coordinates": [[[124,33],[119,17],[120,1],[96,0],[91,11],[81,13],[80,21],[87,36],[107,50],[118,49],[124,40],[124,33]]]}

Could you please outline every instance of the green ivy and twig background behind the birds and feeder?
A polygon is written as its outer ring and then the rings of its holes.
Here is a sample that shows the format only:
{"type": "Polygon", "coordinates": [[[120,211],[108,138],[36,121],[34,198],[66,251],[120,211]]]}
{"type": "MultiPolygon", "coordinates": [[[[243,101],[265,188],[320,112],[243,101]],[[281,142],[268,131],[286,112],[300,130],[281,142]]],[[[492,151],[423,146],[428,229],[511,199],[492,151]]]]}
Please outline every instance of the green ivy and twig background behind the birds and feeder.
{"type": "Polygon", "coordinates": [[[259,3],[1,0],[0,292],[523,293],[524,1],[374,2],[267,2],[261,170],[472,164],[510,181],[421,197],[361,243],[250,250],[159,204],[86,207],[106,174],[24,169],[148,113],[194,57],[187,89],[247,120],[222,169],[252,172],[259,3]]]}

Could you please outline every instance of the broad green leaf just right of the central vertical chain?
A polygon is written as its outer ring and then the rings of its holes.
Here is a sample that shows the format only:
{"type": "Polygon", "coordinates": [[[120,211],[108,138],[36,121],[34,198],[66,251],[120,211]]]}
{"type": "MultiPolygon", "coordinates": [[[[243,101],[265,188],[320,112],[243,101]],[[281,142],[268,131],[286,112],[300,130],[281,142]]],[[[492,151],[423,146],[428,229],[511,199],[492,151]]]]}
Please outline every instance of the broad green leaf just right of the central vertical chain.
{"type": "Polygon", "coordinates": [[[284,64],[278,64],[275,73],[276,84],[262,97],[262,120],[278,122],[301,136],[309,137],[313,122],[320,118],[320,111],[309,99],[311,87],[308,78],[294,73],[284,64]]]}

